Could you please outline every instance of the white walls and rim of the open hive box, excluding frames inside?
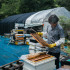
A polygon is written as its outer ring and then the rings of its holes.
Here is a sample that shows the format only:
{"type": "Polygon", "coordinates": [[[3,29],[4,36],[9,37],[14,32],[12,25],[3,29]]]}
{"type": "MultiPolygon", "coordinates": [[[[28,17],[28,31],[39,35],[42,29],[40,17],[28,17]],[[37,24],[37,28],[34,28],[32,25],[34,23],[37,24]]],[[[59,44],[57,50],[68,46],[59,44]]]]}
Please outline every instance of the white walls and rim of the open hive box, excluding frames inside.
{"type": "Polygon", "coordinates": [[[24,60],[24,70],[54,70],[55,66],[55,57],[51,57],[39,62],[32,62],[28,59],[24,60]]]}

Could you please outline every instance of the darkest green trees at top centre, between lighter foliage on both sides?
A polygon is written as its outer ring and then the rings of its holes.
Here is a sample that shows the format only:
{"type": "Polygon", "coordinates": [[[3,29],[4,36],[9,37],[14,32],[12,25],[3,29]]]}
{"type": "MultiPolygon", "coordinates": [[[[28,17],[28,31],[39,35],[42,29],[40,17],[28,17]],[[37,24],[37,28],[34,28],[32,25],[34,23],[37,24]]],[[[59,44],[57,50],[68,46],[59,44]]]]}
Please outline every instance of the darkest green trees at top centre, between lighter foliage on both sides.
{"type": "Polygon", "coordinates": [[[54,7],[54,0],[21,0],[19,11],[21,13],[35,12],[54,7]]]}

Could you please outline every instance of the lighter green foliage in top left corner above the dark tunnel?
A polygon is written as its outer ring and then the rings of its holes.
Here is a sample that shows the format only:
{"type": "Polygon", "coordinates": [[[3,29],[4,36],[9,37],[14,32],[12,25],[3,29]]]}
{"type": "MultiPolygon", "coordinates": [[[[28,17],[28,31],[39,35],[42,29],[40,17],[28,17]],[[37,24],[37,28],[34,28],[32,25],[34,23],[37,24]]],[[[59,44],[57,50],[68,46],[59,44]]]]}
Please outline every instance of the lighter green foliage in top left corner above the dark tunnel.
{"type": "Polygon", "coordinates": [[[3,0],[1,1],[0,17],[5,18],[13,14],[19,13],[20,0],[3,0]]]}

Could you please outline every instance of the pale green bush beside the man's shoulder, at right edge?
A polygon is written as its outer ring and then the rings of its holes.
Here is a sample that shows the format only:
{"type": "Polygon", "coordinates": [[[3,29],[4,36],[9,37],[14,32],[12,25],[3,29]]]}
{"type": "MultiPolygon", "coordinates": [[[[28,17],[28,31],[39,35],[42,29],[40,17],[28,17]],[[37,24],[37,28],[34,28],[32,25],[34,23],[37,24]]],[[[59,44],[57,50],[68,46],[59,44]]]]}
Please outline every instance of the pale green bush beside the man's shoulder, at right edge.
{"type": "Polygon", "coordinates": [[[59,22],[60,22],[60,24],[62,25],[62,27],[64,29],[65,37],[66,37],[66,39],[69,39],[70,36],[69,36],[68,31],[70,30],[70,19],[66,18],[64,16],[60,16],[59,19],[60,19],[59,22]]]}

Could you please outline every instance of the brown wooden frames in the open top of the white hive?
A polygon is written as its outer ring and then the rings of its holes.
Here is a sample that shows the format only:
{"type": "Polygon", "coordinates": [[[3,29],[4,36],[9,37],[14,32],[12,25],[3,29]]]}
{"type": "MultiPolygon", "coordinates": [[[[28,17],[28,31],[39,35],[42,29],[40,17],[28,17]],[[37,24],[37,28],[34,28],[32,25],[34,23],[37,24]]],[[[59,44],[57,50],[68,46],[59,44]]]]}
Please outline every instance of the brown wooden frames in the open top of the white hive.
{"type": "Polygon", "coordinates": [[[27,59],[32,61],[32,62],[39,62],[42,60],[49,59],[53,56],[46,54],[46,52],[40,52],[40,53],[34,53],[32,56],[30,55],[27,59]]]}

